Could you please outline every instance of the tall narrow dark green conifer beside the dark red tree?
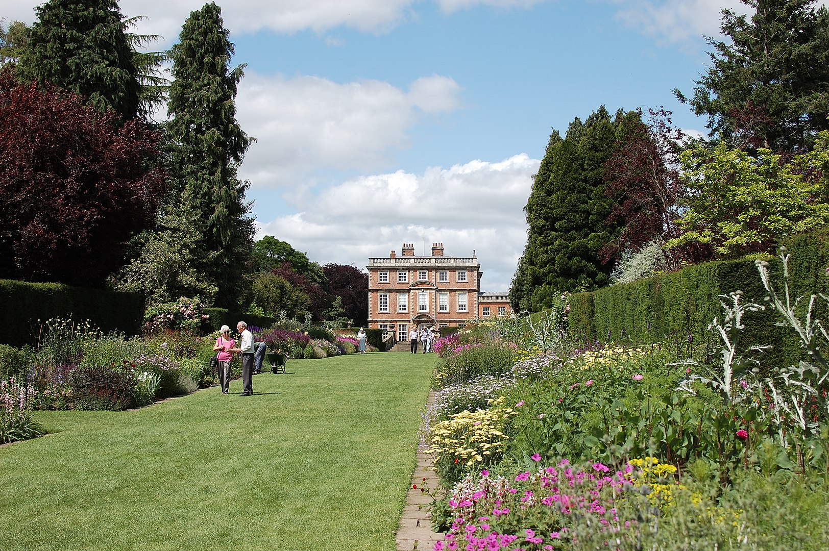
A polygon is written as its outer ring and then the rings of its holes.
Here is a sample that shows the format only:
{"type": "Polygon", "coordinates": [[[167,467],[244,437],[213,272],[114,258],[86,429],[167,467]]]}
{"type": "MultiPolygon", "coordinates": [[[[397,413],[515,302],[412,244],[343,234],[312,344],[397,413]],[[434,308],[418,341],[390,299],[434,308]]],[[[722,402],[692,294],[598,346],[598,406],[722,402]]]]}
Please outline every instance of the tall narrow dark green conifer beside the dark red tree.
{"type": "Polygon", "coordinates": [[[192,223],[203,235],[203,249],[218,253],[205,269],[219,286],[220,306],[232,306],[239,297],[254,233],[245,203],[248,183],[236,175],[251,141],[235,119],[244,66],[230,70],[228,35],[215,3],[190,13],[172,46],[167,104],[173,198],[196,213],[192,223]]]}

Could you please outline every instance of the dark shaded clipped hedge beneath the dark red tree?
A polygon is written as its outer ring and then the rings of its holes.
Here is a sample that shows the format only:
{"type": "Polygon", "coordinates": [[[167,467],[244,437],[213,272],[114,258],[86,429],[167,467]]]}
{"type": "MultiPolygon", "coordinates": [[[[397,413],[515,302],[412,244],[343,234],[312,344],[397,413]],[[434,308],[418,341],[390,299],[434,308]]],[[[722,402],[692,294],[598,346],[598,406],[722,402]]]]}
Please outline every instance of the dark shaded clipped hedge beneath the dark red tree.
{"type": "Polygon", "coordinates": [[[0,343],[22,346],[35,344],[41,322],[51,318],[90,320],[102,331],[123,331],[138,335],[144,313],[143,296],[70,287],[61,283],[25,283],[0,279],[0,343]]]}

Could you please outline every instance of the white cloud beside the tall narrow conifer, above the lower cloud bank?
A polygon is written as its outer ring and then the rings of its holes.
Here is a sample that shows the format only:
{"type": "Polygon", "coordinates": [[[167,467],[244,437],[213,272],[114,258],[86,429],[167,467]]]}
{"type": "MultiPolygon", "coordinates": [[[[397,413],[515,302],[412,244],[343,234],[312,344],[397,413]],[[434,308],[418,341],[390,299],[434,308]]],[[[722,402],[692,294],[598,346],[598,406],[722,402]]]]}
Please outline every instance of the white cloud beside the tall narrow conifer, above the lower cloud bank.
{"type": "Polygon", "coordinates": [[[257,143],[241,175],[256,186],[280,186],[320,167],[384,168],[409,145],[407,132],[424,113],[458,109],[460,91],[454,80],[439,75],[415,80],[407,92],[379,80],[338,84],[249,72],[239,85],[237,118],[257,143]]]}

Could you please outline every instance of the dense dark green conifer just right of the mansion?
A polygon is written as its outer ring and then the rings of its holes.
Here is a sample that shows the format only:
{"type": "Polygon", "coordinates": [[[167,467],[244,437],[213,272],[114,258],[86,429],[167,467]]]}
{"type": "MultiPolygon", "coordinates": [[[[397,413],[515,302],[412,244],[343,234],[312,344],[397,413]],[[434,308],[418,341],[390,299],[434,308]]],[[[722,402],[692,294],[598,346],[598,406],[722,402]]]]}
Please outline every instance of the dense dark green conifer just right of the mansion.
{"type": "Polygon", "coordinates": [[[549,307],[563,291],[606,285],[612,262],[599,251],[618,234],[608,221],[604,164],[617,147],[614,121],[604,107],[582,123],[575,118],[564,139],[553,133],[527,201],[527,244],[513,278],[510,302],[519,312],[549,307]]]}

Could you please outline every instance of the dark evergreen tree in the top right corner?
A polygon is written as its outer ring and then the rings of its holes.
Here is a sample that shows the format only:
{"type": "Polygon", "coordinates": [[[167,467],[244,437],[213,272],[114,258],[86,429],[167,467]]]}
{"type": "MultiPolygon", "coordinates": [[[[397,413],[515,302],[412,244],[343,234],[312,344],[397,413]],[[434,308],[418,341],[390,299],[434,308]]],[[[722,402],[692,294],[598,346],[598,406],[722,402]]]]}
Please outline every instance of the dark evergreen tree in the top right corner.
{"type": "Polygon", "coordinates": [[[802,152],[829,128],[829,12],[814,0],[741,0],[750,21],[723,10],[722,33],[708,39],[708,72],[696,82],[691,104],[707,115],[714,138],[744,150],[802,152]]]}

